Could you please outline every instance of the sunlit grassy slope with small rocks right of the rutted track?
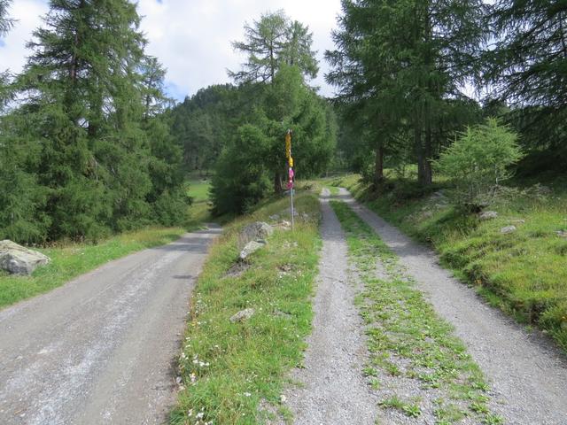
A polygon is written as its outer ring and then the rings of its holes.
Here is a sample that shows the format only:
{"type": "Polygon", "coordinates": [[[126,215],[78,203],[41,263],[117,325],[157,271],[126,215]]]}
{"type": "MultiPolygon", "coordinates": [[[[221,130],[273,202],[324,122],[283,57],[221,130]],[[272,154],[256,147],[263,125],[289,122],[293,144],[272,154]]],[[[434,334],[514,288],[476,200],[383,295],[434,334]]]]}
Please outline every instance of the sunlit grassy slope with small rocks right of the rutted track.
{"type": "Polygon", "coordinates": [[[411,183],[376,197],[358,180],[349,176],[334,184],[351,189],[410,236],[431,243],[491,304],[545,329],[567,350],[567,238],[556,234],[567,229],[567,182],[550,182],[548,196],[519,192],[490,207],[497,219],[480,221],[475,214],[439,207],[431,192],[420,193],[411,183]],[[509,225],[517,231],[502,235],[500,229],[509,225]]]}

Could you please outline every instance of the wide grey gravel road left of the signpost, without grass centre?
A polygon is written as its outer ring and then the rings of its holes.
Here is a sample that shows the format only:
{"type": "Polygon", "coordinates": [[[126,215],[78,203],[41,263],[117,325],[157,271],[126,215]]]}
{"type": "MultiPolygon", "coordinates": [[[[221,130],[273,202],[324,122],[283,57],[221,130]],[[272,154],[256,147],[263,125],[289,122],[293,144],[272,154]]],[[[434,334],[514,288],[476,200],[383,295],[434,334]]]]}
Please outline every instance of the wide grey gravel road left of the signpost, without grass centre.
{"type": "Polygon", "coordinates": [[[0,423],[166,421],[190,291],[220,232],[137,252],[0,311],[0,423]]]}

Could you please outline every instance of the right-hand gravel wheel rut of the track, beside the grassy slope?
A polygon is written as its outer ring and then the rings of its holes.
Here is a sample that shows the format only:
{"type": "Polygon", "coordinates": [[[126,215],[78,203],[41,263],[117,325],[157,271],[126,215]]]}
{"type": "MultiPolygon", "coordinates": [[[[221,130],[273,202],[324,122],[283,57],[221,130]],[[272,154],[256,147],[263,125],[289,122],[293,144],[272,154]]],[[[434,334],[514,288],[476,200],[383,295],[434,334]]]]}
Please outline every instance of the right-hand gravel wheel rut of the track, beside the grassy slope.
{"type": "Polygon", "coordinates": [[[453,324],[491,383],[494,413],[509,424],[567,424],[567,360],[547,337],[539,331],[526,332],[485,305],[474,290],[439,266],[431,250],[357,204],[346,189],[341,189],[340,198],[400,256],[417,287],[453,324]]]}

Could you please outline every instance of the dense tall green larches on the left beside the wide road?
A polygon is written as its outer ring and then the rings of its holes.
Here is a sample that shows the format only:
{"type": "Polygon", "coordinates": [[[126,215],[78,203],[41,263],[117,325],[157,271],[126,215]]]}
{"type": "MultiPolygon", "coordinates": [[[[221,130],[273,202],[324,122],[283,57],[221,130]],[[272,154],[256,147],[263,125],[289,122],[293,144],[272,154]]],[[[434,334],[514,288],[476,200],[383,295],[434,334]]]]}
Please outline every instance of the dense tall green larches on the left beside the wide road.
{"type": "Polygon", "coordinates": [[[12,83],[19,102],[0,117],[0,237],[96,241],[183,221],[165,71],[139,24],[126,0],[50,2],[12,83]]]}

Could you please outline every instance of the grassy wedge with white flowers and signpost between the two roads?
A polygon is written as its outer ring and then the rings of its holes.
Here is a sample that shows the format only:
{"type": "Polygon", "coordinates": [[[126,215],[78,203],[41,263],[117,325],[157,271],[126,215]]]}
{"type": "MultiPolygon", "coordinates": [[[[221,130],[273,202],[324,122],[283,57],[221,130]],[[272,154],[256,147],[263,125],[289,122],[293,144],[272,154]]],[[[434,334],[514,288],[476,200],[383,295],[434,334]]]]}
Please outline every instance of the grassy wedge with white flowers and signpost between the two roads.
{"type": "Polygon", "coordinates": [[[321,245],[318,199],[299,194],[296,208],[309,219],[297,220],[294,232],[276,229],[266,247],[235,267],[240,229],[283,215],[288,203],[286,198],[266,203],[227,226],[214,243],[191,300],[172,424],[261,423],[278,410],[289,416],[280,394],[286,372],[303,359],[311,329],[321,245]],[[255,311],[249,320],[229,321],[245,308],[255,311]]]}

